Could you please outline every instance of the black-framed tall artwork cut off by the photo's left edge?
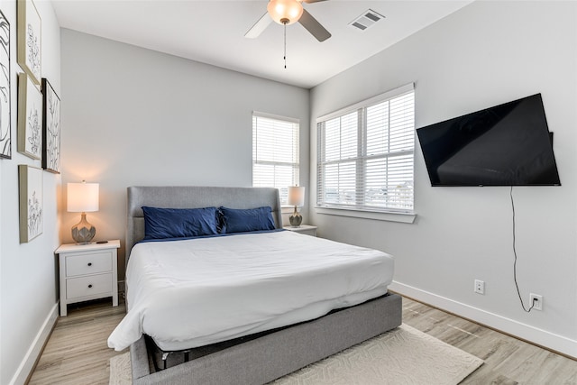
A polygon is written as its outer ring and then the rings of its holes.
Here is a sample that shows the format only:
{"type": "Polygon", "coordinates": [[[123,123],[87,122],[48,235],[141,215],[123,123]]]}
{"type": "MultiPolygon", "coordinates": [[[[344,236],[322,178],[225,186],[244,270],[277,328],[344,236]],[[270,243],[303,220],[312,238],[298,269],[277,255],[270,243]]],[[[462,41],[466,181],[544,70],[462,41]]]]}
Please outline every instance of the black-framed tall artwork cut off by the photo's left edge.
{"type": "Polygon", "coordinates": [[[0,158],[12,159],[10,23],[0,10],[0,158]]]}

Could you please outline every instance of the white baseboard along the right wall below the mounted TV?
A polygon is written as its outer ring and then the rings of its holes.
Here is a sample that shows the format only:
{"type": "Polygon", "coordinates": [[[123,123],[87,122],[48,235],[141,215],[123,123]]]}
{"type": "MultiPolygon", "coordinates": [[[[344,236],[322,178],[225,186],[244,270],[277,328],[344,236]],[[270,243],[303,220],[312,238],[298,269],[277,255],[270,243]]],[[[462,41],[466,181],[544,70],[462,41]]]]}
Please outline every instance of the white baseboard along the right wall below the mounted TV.
{"type": "Polygon", "coordinates": [[[426,290],[393,281],[389,289],[409,298],[415,298],[433,307],[438,307],[456,316],[468,318],[473,322],[489,326],[507,335],[515,336],[531,344],[561,353],[572,359],[577,359],[577,341],[563,335],[555,335],[538,327],[523,324],[514,319],[463,304],[450,298],[444,298],[426,290]]]}

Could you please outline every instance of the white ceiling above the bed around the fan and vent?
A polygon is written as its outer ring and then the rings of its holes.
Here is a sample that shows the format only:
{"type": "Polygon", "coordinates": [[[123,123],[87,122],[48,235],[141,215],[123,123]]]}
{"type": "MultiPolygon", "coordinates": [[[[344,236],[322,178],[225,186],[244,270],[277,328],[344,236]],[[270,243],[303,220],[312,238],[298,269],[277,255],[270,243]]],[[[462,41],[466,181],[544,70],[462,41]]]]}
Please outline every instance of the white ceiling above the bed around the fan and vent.
{"type": "Polygon", "coordinates": [[[324,42],[302,25],[270,23],[244,37],[267,0],[52,0],[60,26],[298,87],[315,87],[472,0],[330,0],[304,4],[332,33],[324,42]],[[349,25],[371,9],[385,16],[365,31],[349,25]]]}

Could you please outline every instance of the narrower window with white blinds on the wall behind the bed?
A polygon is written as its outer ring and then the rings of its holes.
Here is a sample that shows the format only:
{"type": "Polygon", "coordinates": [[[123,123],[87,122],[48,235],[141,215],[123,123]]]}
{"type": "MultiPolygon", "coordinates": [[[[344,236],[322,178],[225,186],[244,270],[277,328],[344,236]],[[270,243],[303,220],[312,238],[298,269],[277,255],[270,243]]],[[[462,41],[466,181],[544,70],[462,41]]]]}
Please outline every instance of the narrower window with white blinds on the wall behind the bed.
{"type": "Polygon", "coordinates": [[[252,186],[279,188],[281,205],[298,185],[299,127],[298,119],[252,113],[252,186]]]}

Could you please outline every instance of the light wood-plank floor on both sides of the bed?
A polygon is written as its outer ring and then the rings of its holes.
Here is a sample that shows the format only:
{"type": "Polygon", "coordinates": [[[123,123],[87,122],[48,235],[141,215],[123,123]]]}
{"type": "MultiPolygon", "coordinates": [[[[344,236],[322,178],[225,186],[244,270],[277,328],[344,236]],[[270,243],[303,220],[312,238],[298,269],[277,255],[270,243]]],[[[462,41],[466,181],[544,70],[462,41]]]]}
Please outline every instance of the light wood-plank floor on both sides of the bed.
{"type": "MultiPolygon", "coordinates": [[[[119,353],[106,339],[124,311],[124,304],[111,307],[110,300],[70,306],[30,383],[108,384],[110,357],[119,353]]],[[[403,298],[403,322],[485,361],[462,384],[577,385],[576,361],[408,298],[403,298]]]]}

